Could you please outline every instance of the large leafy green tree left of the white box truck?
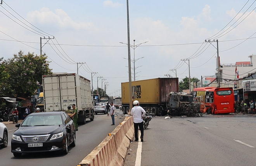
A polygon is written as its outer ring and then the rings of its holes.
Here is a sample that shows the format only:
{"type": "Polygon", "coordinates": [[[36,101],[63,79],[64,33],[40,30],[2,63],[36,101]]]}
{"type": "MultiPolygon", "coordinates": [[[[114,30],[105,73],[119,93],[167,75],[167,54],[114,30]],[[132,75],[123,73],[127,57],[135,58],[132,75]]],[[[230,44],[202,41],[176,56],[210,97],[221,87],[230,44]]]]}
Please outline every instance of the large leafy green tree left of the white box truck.
{"type": "Polygon", "coordinates": [[[9,86],[5,95],[28,97],[35,94],[38,83],[42,84],[42,75],[52,74],[46,55],[24,55],[20,51],[13,58],[6,60],[5,71],[9,74],[9,86]]]}

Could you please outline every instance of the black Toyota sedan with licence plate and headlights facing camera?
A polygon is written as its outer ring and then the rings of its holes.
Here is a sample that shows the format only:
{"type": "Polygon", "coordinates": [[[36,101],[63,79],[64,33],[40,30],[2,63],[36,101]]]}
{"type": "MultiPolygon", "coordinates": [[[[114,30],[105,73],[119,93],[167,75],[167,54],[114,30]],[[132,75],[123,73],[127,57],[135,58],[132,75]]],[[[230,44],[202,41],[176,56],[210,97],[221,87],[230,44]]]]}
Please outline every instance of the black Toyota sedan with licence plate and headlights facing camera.
{"type": "Polygon", "coordinates": [[[68,153],[68,146],[76,145],[73,120],[62,111],[29,114],[12,134],[11,151],[15,157],[22,153],[68,153]]]}

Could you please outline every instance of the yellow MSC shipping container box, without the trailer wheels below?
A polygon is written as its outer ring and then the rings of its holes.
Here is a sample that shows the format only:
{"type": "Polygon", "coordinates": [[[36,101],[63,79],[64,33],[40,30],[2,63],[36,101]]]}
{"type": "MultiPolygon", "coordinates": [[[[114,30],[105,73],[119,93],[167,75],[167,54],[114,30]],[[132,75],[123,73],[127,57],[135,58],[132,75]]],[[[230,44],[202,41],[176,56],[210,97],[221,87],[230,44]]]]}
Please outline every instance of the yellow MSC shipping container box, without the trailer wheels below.
{"type": "MultiPolygon", "coordinates": [[[[140,104],[161,104],[168,101],[170,92],[178,92],[178,78],[157,78],[131,82],[133,100],[140,104]]],[[[121,83],[122,103],[129,104],[129,82],[121,83]]]]}

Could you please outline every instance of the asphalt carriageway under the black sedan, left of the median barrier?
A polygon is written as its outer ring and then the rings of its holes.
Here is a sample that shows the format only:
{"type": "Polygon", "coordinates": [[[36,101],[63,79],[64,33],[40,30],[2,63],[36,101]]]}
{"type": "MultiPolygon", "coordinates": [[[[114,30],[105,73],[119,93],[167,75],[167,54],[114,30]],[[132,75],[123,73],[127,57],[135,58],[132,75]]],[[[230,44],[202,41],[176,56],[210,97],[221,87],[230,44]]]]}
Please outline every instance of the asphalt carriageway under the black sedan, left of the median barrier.
{"type": "MultiPolygon", "coordinates": [[[[116,110],[121,113],[120,110],[116,110]]],[[[0,166],[76,166],[86,157],[102,140],[111,133],[125,117],[116,116],[115,124],[111,126],[111,116],[104,114],[95,115],[94,121],[86,121],[85,125],[79,125],[76,132],[76,147],[69,148],[67,155],[54,153],[22,154],[14,157],[10,151],[12,133],[16,130],[14,124],[6,125],[9,132],[8,147],[0,148],[0,166]]]]}

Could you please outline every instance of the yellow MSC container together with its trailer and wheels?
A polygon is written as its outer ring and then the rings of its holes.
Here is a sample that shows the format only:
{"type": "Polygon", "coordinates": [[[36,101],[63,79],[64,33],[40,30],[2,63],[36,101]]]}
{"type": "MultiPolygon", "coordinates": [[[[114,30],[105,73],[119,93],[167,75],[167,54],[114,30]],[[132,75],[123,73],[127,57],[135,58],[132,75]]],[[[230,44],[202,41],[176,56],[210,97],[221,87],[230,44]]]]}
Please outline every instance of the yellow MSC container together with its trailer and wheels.
{"type": "MultiPolygon", "coordinates": [[[[179,91],[178,78],[157,78],[131,82],[134,100],[140,102],[147,113],[164,115],[167,113],[168,94],[179,91]]],[[[123,113],[127,114],[129,106],[129,82],[122,82],[123,113]]]]}

